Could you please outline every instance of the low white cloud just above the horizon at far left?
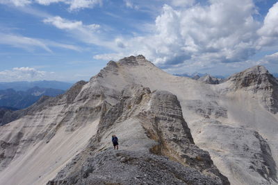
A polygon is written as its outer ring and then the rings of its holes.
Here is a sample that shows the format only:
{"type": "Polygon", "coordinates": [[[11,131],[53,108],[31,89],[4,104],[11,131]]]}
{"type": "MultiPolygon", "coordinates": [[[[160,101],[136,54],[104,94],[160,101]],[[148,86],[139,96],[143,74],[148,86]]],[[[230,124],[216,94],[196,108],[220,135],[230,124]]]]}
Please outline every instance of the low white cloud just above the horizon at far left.
{"type": "Polygon", "coordinates": [[[47,76],[46,71],[38,71],[31,67],[15,67],[11,70],[0,71],[0,79],[2,82],[41,80],[45,76],[47,76]]]}

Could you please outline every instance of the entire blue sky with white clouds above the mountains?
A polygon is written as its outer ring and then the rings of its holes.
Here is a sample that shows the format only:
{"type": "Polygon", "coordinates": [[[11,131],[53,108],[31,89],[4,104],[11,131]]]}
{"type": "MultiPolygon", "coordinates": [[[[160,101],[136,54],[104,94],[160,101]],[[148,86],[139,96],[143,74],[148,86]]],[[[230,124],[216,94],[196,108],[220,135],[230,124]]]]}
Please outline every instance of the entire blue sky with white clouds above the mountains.
{"type": "Polygon", "coordinates": [[[89,80],[145,55],[168,73],[278,72],[277,0],[0,0],[0,82],[89,80]]]}

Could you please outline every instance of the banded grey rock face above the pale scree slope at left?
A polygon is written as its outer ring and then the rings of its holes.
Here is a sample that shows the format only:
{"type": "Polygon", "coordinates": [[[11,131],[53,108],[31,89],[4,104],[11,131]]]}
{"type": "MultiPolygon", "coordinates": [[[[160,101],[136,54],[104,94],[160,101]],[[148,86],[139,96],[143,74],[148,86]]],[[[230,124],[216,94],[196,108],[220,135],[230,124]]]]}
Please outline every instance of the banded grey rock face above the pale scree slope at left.
{"type": "MultiPolygon", "coordinates": [[[[3,118],[17,119],[17,121],[15,125],[1,126],[0,170],[6,168],[14,158],[24,154],[30,146],[42,140],[48,143],[59,127],[66,124],[67,119],[73,118],[75,121],[74,118],[78,115],[72,115],[68,107],[73,104],[74,98],[79,94],[83,85],[85,82],[77,82],[63,96],[55,98],[43,96],[27,109],[12,112],[9,117],[4,115],[3,118]],[[67,112],[63,112],[63,109],[67,109],[67,112]],[[12,130],[9,130],[10,127],[12,130]]],[[[90,117],[90,115],[86,116],[90,117]]],[[[71,129],[72,127],[74,125],[70,125],[71,129]]]]}

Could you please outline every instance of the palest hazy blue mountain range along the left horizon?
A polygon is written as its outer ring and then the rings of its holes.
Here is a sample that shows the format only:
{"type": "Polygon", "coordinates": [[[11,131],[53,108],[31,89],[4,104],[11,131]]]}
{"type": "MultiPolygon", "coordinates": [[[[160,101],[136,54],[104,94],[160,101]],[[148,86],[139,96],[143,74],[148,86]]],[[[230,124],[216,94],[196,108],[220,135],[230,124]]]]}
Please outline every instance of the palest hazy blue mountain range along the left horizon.
{"type": "Polygon", "coordinates": [[[69,82],[48,81],[48,80],[40,80],[40,81],[33,81],[33,82],[27,82],[27,81],[0,82],[0,89],[15,89],[15,91],[26,91],[33,87],[67,90],[71,86],[72,83],[69,82]]]}

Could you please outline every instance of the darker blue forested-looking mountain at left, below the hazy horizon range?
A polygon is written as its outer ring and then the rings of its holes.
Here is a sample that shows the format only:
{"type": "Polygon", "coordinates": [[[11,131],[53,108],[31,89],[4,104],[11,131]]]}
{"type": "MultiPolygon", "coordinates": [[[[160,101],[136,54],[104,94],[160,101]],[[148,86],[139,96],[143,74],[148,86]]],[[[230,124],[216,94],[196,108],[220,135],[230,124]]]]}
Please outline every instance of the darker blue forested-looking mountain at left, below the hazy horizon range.
{"type": "Polygon", "coordinates": [[[60,89],[33,87],[27,91],[14,89],[0,90],[0,106],[24,109],[35,103],[41,96],[57,96],[65,91],[60,89]]]}

